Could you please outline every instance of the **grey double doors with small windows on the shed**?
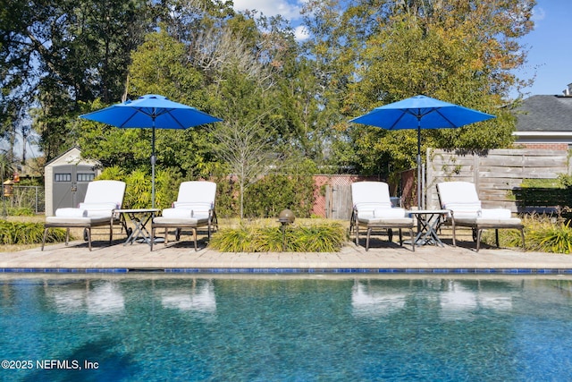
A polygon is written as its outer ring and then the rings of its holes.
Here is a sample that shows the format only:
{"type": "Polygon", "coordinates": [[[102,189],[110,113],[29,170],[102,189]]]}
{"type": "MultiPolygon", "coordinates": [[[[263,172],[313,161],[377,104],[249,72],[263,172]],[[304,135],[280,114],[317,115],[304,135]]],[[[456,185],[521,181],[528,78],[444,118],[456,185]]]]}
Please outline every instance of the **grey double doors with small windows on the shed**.
{"type": "Polygon", "coordinates": [[[92,166],[63,165],[54,167],[54,211],[78,207],[86,197],[88,183],[96,176],[92,166]]]}

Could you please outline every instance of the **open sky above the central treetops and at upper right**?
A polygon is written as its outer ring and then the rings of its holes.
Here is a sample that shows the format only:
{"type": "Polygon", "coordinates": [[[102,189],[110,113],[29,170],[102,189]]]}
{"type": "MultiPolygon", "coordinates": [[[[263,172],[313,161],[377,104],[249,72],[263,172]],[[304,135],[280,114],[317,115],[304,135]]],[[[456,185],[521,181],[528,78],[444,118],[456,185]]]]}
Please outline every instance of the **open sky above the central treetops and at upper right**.
{"type": "MultiPolygon", "coordinates": [[[[234,0],[238,11],[257,10],[266,16],[282,14],[296,26],[304,0],[234,0]]],[[[537,0],[534,7],[534,30],[520,43],[528,49],[528,62],[517,72],[528,80],[536,75],[534,85],[524,89],[526,97],[562,94],[572,83],[572,0],[537,0]]],[[[304,38],[299,29],[298,38],[304,38]]],[[[516,93],[511,97],[516,97],[516,93]]]]}

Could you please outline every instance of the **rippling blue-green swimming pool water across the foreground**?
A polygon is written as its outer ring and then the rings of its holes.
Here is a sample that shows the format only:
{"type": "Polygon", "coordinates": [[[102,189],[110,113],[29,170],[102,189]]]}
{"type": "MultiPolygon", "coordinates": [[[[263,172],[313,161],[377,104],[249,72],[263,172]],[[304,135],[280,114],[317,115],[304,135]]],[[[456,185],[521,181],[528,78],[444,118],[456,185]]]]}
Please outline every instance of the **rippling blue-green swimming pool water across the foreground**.
{"type": "Polygon", "coordinates": [[[572,278],[2,276],[0,330],[0,380],[568,380],[572,278]]]}

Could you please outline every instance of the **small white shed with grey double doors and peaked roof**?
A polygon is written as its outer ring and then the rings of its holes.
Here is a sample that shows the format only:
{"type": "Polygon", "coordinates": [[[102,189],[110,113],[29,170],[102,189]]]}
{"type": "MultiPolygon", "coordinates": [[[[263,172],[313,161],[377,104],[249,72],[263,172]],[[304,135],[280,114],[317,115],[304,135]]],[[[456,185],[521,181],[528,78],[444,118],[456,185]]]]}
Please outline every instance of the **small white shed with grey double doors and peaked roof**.
{"type": "Polygon", "coordinates": [[[77,207],[83,201],[88,183],[101,174],[99,162],[81,157],[81,150],[71,148],[46,164],[46,216],[57,208],[77,207]]]}

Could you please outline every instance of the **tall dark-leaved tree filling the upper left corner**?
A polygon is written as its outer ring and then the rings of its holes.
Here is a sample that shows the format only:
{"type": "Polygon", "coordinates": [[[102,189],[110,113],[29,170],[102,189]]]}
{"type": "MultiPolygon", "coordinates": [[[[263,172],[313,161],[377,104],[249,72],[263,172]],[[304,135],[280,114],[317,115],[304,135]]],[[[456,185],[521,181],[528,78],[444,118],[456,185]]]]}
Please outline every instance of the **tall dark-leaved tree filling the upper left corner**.
{"type": "Polygon", "coordinates": [[[37,108],[34,129],[49,160],[75,143],[69,121],[79,102],[122,98],[130,51],[153,27],[152,8],[144,0],[4,3],[0,122],[20,123],[37,108]]]}

